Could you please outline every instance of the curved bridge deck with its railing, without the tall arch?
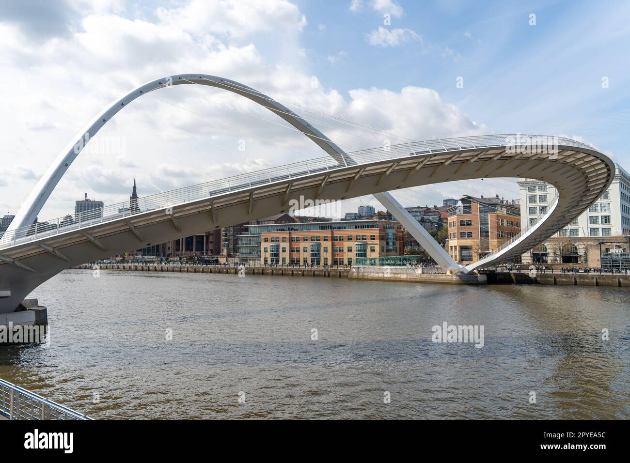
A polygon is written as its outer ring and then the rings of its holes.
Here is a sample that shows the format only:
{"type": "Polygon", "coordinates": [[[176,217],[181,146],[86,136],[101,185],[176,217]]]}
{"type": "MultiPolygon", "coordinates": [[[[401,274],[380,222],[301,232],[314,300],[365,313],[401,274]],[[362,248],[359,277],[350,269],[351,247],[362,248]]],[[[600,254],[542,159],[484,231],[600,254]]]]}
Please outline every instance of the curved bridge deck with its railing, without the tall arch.
{"type": "Polygon", "coordinates": [[[459,137],[350,152],[338,160],[326,156],[109,205],[80,222],[60,218],[21,227],[0,239],[0,290],[2,285],[12,289],[8,298],[0,299],[0,311],[5,300],[7,306],[13,304],[64,268],[287,212],[291,199],[343,200],[489,177],[551,183],[559,198],[549,212],[468,269],[513,260],[587,209],[608,188],[615,171],[610,159],[575,140],[558,139],[557,152],[518,152],[512,141],[518,137],[529,137],[532,146],[542,140],[536,135],[459,137]],[[20,296],[16,287],[28,291],[20,296]]]}

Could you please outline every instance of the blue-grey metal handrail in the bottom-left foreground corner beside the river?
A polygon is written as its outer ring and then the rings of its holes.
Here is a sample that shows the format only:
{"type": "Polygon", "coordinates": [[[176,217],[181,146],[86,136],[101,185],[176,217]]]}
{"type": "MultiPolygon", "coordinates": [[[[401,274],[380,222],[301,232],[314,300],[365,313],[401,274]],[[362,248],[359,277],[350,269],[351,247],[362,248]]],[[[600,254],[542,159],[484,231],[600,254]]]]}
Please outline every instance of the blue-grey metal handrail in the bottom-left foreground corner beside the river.
{"type": "Polygon", "coordinates": [[[9,420],[91,420],[83,413],[0,379],[0,414],[9,420]]]}

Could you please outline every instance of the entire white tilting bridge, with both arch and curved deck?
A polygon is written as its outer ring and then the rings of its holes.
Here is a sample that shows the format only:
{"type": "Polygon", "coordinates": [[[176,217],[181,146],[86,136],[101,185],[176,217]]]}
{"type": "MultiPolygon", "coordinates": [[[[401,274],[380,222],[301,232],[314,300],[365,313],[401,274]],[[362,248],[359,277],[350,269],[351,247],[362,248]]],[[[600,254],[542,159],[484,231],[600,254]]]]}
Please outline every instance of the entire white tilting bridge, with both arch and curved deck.
{"type": "MultiPolygon", "coordinates": [[[[11,319],[33,289],[59,272],[131,249],[164,243],[260,217],[287,212],[292,199],[344,200],[374,195],[447,273],[468,273],[511,261],[578,217],[608,188],[614,163],[592,146],[539,135],[481,135],[408,142],[346,152],[304,118],[243,84],[205,74],[178,74],[146,83],[114,101],[79,131],[26,198],[0,238],[0,316],[11,319]],[[76,222],[33,221],[81,149],[135,98],[172,85],[225,89],[282,117],[317,144],[326,156],[142,197],[80,215],[76,222]],[[519,141],[520,140],[520,141],[519,141]],[[535,178],[555,186],[558,196],[536,223],[493,253],[467,266],[449,254],[404,210],[389,191],[478,178],[535,178]]],[[[2,319],[0,317],[0,323],[2,319]]]]}

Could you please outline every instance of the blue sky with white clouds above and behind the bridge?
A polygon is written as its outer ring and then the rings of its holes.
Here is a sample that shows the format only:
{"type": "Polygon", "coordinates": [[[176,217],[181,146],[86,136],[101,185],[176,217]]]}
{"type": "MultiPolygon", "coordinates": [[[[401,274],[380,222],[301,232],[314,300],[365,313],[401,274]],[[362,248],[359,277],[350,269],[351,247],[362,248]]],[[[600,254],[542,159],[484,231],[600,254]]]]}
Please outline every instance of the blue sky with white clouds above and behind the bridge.
{"type": "MultiPolygon", "coordinates": [[[[348,151],[402,140],[343,120],[414,140],[564,135],[630,169],[629,17],[621,1],[3,0],[0,214],[17,212],[111,101],[185,72],[258,89],[348,151]]],[[[93,137],[40,220],[71,212],[85,192],[125,200],[134,176],[144,196],[321,156],[242,97],[162,89],[93,137]]],[[[496,179],[396,196],[433,205],[465,193],[518,196],[514,181],[496,179]]],[[[359,203],[379,207],[364,197],[344,202],[343,212],[359,203]]]]}

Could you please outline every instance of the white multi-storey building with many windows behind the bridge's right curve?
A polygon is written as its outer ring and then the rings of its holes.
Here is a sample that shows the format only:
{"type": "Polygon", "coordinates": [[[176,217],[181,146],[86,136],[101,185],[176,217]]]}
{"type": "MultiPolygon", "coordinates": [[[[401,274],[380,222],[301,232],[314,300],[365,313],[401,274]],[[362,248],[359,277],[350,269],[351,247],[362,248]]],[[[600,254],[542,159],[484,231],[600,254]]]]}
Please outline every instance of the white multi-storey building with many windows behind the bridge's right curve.
{"type": "MultiPolygon", "coordinates": [[[[602,242],[627,243],[627,236],[630,235],[630,174],[619,164],[616,164],[616,167],[615,178],[608,190],[604,191],[604,194],[588,210],[552,237],[556,241],[581,244],[582,249],[578,249],[580,246],[575,246],[576,249],[573,250],[575,256],[556,256],[564,263],[595,263],[595,260],[587,258],[589,245],[592,247],[602,242]],[[576,240],[579,238],[583,240],[576,240]],[[582,259],[577,260],[580,255],[582,259]]],[[[523,227],[531,226],[551,207],[558,191],[539,180],[519,181],[518,186],[522,225],[523,227]]],[[[523,263],[558,261],[551,259],[552,252],[546,244],[542,243],[541,246],[523,254],[523,263]]],[[[627,246],[624,247],[627,248],[627,246]]]]}

